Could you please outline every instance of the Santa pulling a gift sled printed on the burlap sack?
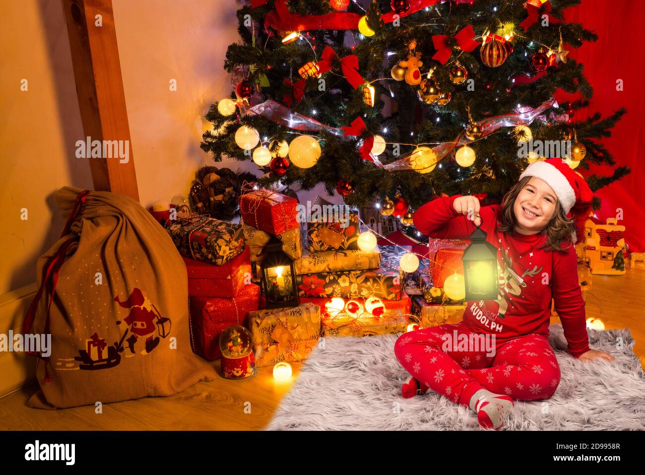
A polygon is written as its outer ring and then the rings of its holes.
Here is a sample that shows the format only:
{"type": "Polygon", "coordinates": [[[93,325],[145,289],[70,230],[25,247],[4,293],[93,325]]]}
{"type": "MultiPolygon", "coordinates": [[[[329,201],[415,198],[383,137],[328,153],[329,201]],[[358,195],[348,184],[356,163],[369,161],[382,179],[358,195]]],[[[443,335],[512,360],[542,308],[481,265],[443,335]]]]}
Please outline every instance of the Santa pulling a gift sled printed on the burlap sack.
{"type": "MultiPolygon", "coordinates": [[[[74,358],[76,361],[81,361],[80,369],[112,368],[121,362],[124,342],[128,344],[130,354],[134,355],[135,343],[139,341],[139,338],[145,337],[144,349],[141,354],[148,354],[159,345],[159,336],[166,338],[170,334],[170,319],[161,316],[157,307],[150,302],[143,290],[134,288],[126,301],[120,301],[118,296],[114,298],[114,301],[123,308],[130,308],[130,313],[123,319],[128,328],[121,336],[121,340],[115,341],[114,345],[109,347],[107,347],[105,339],[99,338],[97,332],[94,332],[88,340],[87,349],[79,350],[80,356],[74,358]],[[155,336],[155,332],[157,336],[155,336]],[[130,337],[126,339],[128,333],[130,333],[130,337]]],[[[117,325],[121,325],[121,321],[117,321],[117,325]]]]}

